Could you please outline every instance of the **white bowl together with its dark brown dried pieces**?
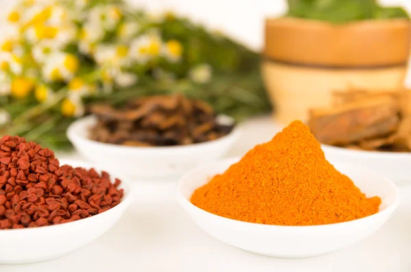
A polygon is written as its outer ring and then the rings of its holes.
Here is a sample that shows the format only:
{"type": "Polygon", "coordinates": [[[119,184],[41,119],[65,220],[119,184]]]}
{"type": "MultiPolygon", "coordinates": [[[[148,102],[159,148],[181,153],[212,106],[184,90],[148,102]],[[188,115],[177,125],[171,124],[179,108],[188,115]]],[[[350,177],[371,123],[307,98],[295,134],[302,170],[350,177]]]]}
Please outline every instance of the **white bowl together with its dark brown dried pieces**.
{"type": "Polygon", "coordinates": [[[221,158],[240,136],[234,119],[182,95],[142,97],[123,108],[95,105],[91,112],[67,130],[75,149],[134,177],[182,174],[221,158]]]}

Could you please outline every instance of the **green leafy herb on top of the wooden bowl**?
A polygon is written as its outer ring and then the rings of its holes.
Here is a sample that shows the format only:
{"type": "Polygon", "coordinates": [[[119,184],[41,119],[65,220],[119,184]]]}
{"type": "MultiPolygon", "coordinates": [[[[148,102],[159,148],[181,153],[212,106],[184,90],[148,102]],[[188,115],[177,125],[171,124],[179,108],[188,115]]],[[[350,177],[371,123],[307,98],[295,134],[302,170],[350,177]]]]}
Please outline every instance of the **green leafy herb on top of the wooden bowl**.
{"type": "Polygon", "coordinates": [[[349,23],[369,19],[409,18],[403,8],[386,8],[375,0],[288,0],[287,16],[349,23]]]}

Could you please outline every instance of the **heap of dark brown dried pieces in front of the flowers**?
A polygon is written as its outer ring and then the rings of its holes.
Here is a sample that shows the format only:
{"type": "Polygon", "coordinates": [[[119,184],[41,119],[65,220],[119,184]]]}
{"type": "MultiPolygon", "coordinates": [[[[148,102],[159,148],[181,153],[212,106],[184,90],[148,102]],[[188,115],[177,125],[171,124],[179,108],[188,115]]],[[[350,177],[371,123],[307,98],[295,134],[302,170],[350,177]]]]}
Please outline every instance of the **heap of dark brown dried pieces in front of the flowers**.
{"type": "Polygon", "coordinates": [[[130,146],[190,145],[229,134],[234,124],[221,124],[210,105],[182,95],[158,95],[129,101],[123,108],[92,106],[98,118],[90,138],[130,146]]]}

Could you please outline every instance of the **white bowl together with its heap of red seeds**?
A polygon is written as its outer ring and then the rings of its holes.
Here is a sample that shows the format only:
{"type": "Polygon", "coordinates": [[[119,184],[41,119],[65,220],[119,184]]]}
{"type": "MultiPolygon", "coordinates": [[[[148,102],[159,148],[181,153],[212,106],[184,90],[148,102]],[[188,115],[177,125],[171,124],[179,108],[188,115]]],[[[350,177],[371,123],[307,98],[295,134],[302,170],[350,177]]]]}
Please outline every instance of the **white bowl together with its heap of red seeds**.
{"type": "Polygon", "coordinates": [[[95,240],[132,203],[134,186],[116,173],[18,136],[0,139],[0,263],[40,262],[95,240]]]}

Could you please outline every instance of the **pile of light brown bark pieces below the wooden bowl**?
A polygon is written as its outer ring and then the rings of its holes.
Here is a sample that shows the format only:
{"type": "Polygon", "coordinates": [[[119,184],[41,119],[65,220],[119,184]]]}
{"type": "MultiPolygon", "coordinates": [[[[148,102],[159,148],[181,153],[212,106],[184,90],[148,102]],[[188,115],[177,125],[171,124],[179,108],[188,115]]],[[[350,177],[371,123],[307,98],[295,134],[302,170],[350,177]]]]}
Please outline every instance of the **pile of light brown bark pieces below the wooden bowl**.
{"type": "Polygon", "coordinates": [[[329,108],[310,110],[324,144],[369,151],[411,151],[410,90],[335,92],[329,108]]]}

